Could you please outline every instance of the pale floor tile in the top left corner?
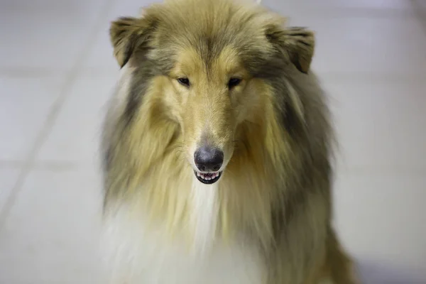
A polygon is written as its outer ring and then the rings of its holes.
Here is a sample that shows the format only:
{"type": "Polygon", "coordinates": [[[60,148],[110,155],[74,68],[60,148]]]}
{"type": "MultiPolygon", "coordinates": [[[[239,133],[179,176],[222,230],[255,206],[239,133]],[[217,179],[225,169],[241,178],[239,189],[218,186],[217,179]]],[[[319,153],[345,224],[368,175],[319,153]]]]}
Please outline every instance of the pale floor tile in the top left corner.
{"type": "Polygon", "coordinates": [[[9,1],[0,9],[0,68],[70,68],[97,20],[102,0],[9,1]]]}

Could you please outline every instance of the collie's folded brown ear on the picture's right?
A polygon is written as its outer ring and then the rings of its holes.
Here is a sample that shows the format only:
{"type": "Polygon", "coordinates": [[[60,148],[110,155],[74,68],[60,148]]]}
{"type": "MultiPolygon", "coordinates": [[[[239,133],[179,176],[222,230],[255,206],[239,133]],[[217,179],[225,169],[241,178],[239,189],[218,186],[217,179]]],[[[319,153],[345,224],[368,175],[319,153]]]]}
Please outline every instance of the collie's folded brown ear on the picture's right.
{"type": "Polygon", "coordinates": [[[271,25],[266,28],[266,38],[292,62],[297,70],[307,74],[314,55],[315,36],[307,28],[283,28],[271,25]]]}

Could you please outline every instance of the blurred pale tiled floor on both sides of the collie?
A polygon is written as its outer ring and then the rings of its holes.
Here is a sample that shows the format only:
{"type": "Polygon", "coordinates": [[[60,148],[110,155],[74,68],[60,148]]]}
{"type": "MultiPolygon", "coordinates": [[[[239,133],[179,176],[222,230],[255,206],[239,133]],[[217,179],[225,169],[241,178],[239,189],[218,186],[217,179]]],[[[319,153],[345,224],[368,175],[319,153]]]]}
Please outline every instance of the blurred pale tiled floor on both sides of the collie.
{"type": "MultiPolygon", "coordinates": [[[[0,1],[0,283],[101,283],[109,22],[149,0],[0,1]]],[[[426,1],[263,0],[317,32],[341,148],[335,223],[363,283],[426,283],[426,1]]]]}

